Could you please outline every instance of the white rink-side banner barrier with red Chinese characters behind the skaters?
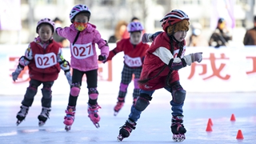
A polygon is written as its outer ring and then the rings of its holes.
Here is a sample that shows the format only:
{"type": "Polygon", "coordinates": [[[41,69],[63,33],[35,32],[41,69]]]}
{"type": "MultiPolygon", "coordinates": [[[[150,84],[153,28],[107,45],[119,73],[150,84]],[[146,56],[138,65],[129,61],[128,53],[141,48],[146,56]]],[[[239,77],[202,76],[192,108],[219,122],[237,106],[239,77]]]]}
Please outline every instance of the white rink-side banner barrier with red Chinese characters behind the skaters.
{"type": "MultiPolygon", "coordinates": [[[[16,82],[12,81],[11,73],[27,46],[0,45],[0,95],[25,94],[30,80],[27,67],[16,82]]],[[[111,43],[110,50],[114,47],[115,44],[111,43]]],[[[70,49],[63,48],[62,51],[64,58],[70,61],[70,49]]],[[[187,92],[256,92],[256,46],[186,48],[186,54],[201,51],[201,63],[195,62],[179,70],[180,82],[187,92]]],[[[99,62],[98,89],[101,93],[118,94],[123,56],[123,53],[119,53],[110,62],[99,62]]],[[[86,77],[83,78],[82,86],[82,93],[86,94],[86,77]]],[[[133,86],[130,83],[130,89],[133,86]]],[[[69,92],[70,87],[61,71],[58,80],[54,82],[53,93],[68,95],[69,92]]]]}

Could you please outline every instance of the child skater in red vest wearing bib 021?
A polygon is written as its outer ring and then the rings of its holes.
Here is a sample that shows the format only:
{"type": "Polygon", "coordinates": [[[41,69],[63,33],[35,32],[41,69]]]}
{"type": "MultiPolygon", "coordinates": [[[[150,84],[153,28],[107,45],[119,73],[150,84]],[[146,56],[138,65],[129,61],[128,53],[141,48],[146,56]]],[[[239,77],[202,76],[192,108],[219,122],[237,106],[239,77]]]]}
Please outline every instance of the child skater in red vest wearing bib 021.
{"type": "Polygon", "coordinates": [[[17,69],[12,73],[14,82],[18,75],[29,68],[30,86],[22,100],[21,110],[18,112],[17,126],[26,118],[26,114],[34,102],[38,86],[42,84],[42,112],[38,115],[39,126],[43,126],[50,116],[52,100],[51,87],[58,78],[60,69],[64,70],[68,82],[71,84],[70,64],[62,57],[61,46],[54,41],[54,22],[50,18],[41,19],[36,27],[38,37],[26,49],[25,55],[19,58],[17,69]]]}

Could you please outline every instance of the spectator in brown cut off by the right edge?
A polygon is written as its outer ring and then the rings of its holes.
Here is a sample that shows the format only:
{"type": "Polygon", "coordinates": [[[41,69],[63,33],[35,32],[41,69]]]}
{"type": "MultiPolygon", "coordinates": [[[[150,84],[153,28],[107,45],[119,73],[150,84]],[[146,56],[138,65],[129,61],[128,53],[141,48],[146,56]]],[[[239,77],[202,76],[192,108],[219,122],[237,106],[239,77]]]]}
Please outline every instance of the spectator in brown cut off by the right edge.
{"type": "Polygon", "coordinates": [[[243,44],[256,45],[256,15],[254,16],[254,28],[246,31],[243,44]]]}

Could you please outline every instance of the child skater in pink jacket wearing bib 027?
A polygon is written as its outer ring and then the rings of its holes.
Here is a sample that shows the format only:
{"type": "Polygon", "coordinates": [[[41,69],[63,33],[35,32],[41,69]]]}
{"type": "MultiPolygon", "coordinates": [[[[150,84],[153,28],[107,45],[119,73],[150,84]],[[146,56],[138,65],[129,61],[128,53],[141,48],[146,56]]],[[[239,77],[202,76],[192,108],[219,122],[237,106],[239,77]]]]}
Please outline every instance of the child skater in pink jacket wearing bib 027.
{"type": "Polygon", "coordinates": [[[65,130],[70,130],[74,122],[78,95],[82,86],[82,76],[86,74],[86,82],[89,94],[88,117],[98,128],[100,116],[98,109],[98,60],[106,62],[109,54],[109,47],[105,40],[101,38],[96,26],[89,23],[90,10],[85,5],[76,5],[70,11],[70,22],[68,27],[56,29],[56,33],[70,41],[71,67],[73,68],[72,85],[66,116],[64,117],[65,130]],[[95,43],[101,50],[101,54],[96,54],[95,43]]]}

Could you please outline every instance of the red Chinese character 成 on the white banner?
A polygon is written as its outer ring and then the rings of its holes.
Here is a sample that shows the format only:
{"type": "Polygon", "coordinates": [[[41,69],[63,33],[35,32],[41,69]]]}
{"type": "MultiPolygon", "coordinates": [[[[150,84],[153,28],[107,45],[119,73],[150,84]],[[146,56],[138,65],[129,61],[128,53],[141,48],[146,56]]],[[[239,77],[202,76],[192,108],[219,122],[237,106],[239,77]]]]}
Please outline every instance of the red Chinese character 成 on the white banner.
{"type": "MultiPolygon", "coordinates": [[[[221,63],[220,66],[217,67],[216,63],[215,63],[218,60],[228,60],[229,58],[226,58],[225,54],[221,54],[221,58],[215,58],[214,53],[210,53],[210,58],[203,58],[203,59],[204,59],[204,61],[206,61],[206,60],[210,61],[210,66],[211,66],[211,70],[212,70],[212,72],[211,72],[212,74],[210,74],[210,76],[207,76],[206,78],[203,78],[203,80],[213,78],[213,77],[218,77],[222,80],[228,80],[230,78],[230,74],[226,74],[225,76],[221,75],[221,71],[226,66],[226,64],[221,63]]],[[[196,66],[202,66],[202,73],[199,74],[199,75],[206,75],[206,74],[210,73],[210,71],[207,71],[207,65],[206,64],[198,64],[198,63],[194,62],[191,65],[191,72],[190,72],[190,76],[188,77],[188,79],[193,78],[196,66]]]]}

